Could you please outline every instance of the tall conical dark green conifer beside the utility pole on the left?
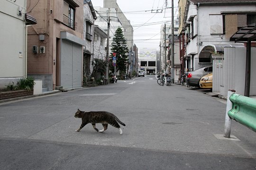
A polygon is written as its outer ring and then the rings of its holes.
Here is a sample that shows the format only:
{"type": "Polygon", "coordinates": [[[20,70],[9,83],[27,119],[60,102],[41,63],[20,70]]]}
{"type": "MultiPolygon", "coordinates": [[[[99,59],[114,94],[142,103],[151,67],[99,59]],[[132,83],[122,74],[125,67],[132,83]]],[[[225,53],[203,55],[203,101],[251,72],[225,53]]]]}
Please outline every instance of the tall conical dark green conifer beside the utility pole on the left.
{"type": "MultiPolygon", "coordinates": [[[[110,57],[113,57],[113,52],[116,53],[117,63],[116,63],[116,70],[120,71],[121,74],[126,72],[126,63],[128,61],[128,47],[126,45],[126,40],[124,38],[123,31],[120,27],[116,30],[113,42],[112,42],[112,48],[111,48],[111,55],[110,57]]],[[[110,60],[110,70],[114,72],[114,67],[112,66],[112,60],[110,60]]]]}

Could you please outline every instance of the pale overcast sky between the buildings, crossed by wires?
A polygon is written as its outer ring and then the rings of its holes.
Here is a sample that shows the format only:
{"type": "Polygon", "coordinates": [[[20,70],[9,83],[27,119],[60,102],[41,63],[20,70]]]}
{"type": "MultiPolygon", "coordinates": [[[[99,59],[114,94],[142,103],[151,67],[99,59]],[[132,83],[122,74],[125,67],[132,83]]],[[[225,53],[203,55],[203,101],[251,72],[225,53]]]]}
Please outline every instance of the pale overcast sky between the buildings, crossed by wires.
{"type": "MultiPolygon", "coordinates": [[[[93,7],[103,7],[103,0],[91,0],[93,7]]],[[[171,24],[172,0],[117,0],[119,8],[133,26],[133,39],[137,48],[159,50],[161,25],[171,24]],[[167,1],[167,8],[165,2],[167,1]]],[[[174,0],[177,16],[178,0],[174,0]]]]}

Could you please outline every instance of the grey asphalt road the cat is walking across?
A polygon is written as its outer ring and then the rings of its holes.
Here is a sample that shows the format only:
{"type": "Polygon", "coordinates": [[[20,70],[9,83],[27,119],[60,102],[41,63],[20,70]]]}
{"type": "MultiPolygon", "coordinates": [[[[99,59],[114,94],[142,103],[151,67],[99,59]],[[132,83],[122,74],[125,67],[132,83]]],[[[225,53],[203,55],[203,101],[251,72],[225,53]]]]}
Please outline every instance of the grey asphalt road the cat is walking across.
{"type": "Polygon", "coordinates": [[[222,139],[225,101],[204,93],[145,76],[0,103],[0,170],[256,170],[256,133],[233,121],[222,139]],[[114,113],[123,135],[75,132],[78,108],[114,113]]]}

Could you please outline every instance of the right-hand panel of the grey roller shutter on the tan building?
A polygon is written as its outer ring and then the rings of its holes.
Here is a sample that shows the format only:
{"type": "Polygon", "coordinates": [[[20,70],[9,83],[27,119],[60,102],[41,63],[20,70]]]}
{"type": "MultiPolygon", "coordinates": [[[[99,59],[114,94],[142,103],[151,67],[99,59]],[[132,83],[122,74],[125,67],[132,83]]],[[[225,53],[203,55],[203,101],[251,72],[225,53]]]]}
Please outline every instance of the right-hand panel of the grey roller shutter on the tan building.
{"type": "Polygon", "coordinates": [[[82,85],[82,48],[73,43],[73,88],[82,85]]]}

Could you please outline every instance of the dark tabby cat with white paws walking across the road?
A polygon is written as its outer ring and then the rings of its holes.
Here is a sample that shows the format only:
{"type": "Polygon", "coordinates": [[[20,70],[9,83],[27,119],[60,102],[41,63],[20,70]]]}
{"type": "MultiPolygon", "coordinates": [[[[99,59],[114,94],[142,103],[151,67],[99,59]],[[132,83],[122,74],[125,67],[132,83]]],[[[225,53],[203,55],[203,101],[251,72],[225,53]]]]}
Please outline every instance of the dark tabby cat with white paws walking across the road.
{"type": "Polygon", "coordinates": [[[118,122],[125,126],[123,122],[121,122],[114,114],[107,112],[107,111],[81,111],[77,110],[74,115],[75,118],[82,118],[82,124],[81,126],[76,129],[77,132],[79,132],[82,127],[84,127],[86,124],[91,123],[92,127],[97,132],[104,132],[108,128],[108,124],[112,125],[113,127],[117,127],[119,129],[120,135],[122,135],[123,131],[121,127],[119,126],[118,122]],[[102,130],[98,130],[96,128],[96,123],[101,123],[103,126],[102,130]]]}

